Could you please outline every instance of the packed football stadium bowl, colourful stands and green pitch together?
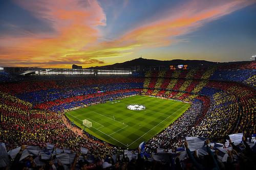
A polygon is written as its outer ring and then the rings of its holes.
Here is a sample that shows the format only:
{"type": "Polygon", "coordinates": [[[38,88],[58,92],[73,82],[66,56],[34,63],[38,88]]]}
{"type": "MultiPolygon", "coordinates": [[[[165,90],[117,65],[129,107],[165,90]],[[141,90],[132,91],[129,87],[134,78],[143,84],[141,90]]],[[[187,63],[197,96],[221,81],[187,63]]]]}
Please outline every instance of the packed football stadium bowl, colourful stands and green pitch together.
{"type": "Polygon", "coordinates": [[[254,61],[234,62],[123,75],[108,70],[104,76],[99,72],[105,70],[86,69],[14,75],[4,67],[1,141],[12,159],[40,155],[46,162],[56,156],[67,168],[72,161],[65,162],[65,157],[75,159],[77,152],[93,162],[97,155],[138,159],[141,145],[146,159],[168,162],[166,155],[180,150],[182,162],[189,159],[183,148],[186,140],[188,149],[201,155],[207,153],[202,150],[206,139],[223,148],[219,152],[242,147],[241,142],[249,152],[255,133],[255,67],[254,61]],[[241,138],[234,137],[234,144],[230,135],[241,138]]]}

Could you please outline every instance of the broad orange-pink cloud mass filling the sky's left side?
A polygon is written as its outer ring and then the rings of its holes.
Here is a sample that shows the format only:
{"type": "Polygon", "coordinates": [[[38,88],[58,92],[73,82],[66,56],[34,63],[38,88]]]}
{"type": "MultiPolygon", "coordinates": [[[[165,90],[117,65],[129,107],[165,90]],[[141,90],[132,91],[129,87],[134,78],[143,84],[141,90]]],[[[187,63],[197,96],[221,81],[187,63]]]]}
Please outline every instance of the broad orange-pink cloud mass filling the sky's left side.
{"type": "MultiPolygon", "coordinates": [[[[77,54],[84,46],[95,43],[100,35],[97,26],[105,25],[105,14],[96,1],[17,1],[17,4],[46,20],[53,34],[30,37],[4,36],[0,40],[2,63],[19,61],[68,61],[66,55],[77,54]],[[11,56],[10,58],[6,58],[11,56]]],[[[71,61],[73,61],[72,59],[71,61]]]]}

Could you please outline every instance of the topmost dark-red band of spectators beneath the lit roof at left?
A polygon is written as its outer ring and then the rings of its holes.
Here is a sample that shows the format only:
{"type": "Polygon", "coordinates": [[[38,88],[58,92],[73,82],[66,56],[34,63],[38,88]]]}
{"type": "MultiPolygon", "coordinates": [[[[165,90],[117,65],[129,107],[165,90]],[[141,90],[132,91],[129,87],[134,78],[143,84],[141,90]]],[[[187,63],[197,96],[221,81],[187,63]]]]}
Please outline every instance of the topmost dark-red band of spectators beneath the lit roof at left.
{"type": "Polygon", "coordinates": [[[57,80],[44,80],[44,81],[23,81],[23,82],[11,82],[1,84],[0,91],[11,93],[13,95],[17,94],[27,94],[28,92],[42,91],[54,89],[55,91],[65,89],[65,88],[80,88],[80,87],[98,87],[105,84],[115,84],[115,83],[143,83],[144,78],[98,78],[98,77],[88,77],[88,78],[76,78],[76,79],[57,79],[57,80]]]}

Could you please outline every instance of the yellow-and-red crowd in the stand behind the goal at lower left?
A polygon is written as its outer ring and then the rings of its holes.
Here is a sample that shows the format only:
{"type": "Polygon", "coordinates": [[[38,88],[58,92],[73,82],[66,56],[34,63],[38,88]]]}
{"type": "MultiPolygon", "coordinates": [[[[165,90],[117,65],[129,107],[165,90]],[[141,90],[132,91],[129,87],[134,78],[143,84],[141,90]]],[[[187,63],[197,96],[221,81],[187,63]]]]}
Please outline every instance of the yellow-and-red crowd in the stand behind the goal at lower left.
{"type": "Polygon", "coordinates": [[[0,141],[6,143],[7,150],[22,144],[45,147],[46,143],[54,143],[58,148],[74,151],[86,147],[94,154],[104,155],[113,151],[103,143],[71,131],[58,113],[31,110],[31,104],[2,92],[0,94],[0,141]]]}

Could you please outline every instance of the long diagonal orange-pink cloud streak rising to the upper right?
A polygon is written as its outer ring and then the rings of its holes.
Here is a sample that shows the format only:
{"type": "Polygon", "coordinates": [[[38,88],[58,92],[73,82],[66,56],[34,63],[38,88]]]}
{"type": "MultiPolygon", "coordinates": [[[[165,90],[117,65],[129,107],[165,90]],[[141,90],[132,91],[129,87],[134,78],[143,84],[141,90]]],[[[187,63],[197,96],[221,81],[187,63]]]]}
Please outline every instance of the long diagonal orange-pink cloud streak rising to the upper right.
{"type": "Polygon", "coordinates": [[[207,6],[204,1],[193,1],[177,7],[170,13],[165,13],[158,20],[129,31],[113,42],[106,42],[105,46],[116,44],[139,47],[167,46],[177,41],[177,37],[193,32],[207,22],[216,20],[233,11],[244,8],[253,1],[220,1],[207,6]]]}

